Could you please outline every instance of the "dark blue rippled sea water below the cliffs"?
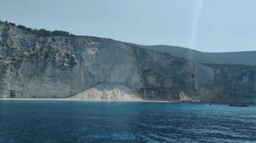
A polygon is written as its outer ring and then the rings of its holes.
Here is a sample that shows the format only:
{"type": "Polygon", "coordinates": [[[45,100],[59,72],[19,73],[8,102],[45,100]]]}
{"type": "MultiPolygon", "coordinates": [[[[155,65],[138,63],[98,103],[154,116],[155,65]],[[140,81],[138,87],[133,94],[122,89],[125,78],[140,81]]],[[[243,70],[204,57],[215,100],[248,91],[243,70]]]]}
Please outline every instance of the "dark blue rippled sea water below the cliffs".
{"type": "Polygon", "coordinates": [[[0,142],[256,142],[256,106],[0,101],[0,142]]]}

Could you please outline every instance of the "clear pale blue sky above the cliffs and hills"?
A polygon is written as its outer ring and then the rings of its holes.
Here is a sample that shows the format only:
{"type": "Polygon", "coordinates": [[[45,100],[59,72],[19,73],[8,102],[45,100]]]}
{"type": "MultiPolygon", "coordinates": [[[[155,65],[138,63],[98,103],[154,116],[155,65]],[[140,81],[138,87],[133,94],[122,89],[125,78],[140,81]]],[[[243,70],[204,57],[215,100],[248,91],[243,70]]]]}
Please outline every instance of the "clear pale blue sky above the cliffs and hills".
{"type": "Polygon", "coordinates": [[[144,45],[256,50],[255,0],[0,0],[0,19],[144,45]]]}

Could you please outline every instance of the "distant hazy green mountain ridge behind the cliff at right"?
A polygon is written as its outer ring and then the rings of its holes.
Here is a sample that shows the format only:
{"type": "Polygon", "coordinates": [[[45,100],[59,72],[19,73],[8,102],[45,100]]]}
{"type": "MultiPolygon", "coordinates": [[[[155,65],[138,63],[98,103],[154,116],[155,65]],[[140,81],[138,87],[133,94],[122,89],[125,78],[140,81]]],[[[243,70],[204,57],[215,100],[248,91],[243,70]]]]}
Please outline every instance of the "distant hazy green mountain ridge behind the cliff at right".
{"type": "Polygon", "coordinates": [[[248,52],[200,52],[197,50],[183,48],[179,46],[166,46],[166,45],[154,45],[145,46],[139,44],[127,43],[133,46],[139,46],[141,48],[146,48],[154,50],[157,52],[164,52],[172,54],[173,56],[178,56],[188,60],[194,60],[199,63],[207,64],[247,64],[256,65],[256,51],[248,52]]]}

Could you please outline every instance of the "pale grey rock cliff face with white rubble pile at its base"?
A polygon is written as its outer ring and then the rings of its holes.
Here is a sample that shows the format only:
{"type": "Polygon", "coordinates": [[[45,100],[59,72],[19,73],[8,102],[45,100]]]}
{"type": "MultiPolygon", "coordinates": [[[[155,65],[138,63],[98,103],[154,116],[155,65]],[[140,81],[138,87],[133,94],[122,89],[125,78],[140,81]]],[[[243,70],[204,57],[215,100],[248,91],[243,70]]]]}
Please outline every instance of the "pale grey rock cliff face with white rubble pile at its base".
{"type": "Polygon", "coordinates": [[[256,103],[253,66],[203,65],[88,36],[0,23],[0,97],[256,103]]]}

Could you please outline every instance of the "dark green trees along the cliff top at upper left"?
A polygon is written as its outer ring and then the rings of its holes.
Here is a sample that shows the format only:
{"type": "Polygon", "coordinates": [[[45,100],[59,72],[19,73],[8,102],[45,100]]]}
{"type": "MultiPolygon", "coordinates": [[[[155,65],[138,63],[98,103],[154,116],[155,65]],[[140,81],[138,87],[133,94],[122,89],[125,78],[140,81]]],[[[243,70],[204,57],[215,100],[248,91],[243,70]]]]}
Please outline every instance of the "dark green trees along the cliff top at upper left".
{"type": "Polygon", "coordinates": [[[22,26],[22,25],[16,26],[15,23],[11,23],[8,21],[3,22],[0,20],[0,23],[5,23],[5,24],[9,24],[11,26],[15,26],[17,28],[20,28],[21,30],[35,34],[36,36],[75,36],[73,34],[69,34],[69,32],[65,32],[65,31],[61,31],[61,30],[54,30],[54,31],[49,31],[49,30],[44,30],[44,29],[40,29],[40,30],[34,29],[33,30],[32,28],[26,28],[25,26],[22,26]]]}

